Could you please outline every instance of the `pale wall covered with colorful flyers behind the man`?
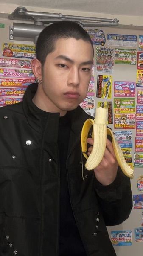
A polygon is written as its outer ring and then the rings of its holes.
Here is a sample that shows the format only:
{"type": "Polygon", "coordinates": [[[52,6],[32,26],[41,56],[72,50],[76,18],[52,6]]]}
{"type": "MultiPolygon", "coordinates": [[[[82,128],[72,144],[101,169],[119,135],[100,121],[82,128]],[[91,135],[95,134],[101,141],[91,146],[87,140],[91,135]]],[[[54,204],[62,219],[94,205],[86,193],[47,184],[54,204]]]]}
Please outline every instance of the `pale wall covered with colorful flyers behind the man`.
{"type": "MultiPolygon", "coordinates": [[[[0,19],[0,107],[20,102],[28,84],[35,81],[31,70],[34,43],[10,41],[9,25],[12,20],[0,19]]],[[[98,106],[108,108],[108,125],[126,162],[135,169],[130,217],[107,229],[118,256],[139,255],[143,248],[143,31],[96,28],[87,32],[95,56],[81,107],[91,116],[98,106]]]]}

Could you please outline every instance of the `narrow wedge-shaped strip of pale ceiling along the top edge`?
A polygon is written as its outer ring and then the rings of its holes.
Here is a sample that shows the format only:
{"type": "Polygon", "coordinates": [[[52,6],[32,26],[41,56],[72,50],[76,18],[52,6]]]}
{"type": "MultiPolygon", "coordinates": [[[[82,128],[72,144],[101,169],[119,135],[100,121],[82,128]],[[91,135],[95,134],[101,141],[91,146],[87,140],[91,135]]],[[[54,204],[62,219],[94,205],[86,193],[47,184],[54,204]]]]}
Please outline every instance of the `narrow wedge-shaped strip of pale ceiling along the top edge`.
{"type": "Polygon", "coordinates": [[[112,15],[143,16],[143,0],[0,0],[0,3],[112,15]]]}

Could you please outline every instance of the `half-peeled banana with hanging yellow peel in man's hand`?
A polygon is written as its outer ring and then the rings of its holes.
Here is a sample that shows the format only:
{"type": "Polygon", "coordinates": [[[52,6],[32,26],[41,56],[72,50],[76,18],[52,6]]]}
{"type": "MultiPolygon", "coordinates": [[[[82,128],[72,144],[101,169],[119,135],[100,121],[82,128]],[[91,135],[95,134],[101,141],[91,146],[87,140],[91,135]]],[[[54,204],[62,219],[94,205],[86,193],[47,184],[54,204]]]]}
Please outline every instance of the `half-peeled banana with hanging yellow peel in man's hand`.
{"type": "Polygon", "coordinates": [[[85,167],[87,170],[95,169],[101,162],[105,148],[107,134],[112,137],[112,145],[116,159],[122,172],[129,178],[133,178],[134,170],[126,163],[123,153],[111,129],[107,128],[107,108],[96,108],[95,119],[87,119],[81,131],[81,150],[87,159],[85,167]],[[87,156],[87,137],[90,128],[93,126],[92,138],[94,139],[93,149],[90,156],[87,156]]]}

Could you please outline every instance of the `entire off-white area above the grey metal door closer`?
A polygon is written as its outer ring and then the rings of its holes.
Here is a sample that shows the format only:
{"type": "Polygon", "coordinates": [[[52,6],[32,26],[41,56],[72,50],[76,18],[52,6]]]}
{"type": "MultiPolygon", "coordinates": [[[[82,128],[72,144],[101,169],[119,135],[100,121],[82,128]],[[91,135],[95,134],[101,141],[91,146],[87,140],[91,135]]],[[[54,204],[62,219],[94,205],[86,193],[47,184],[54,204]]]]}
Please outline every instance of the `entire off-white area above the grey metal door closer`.
{"type": "Polygon", "coordinates": [[[28,11],[117,18],[121,25],[143,26],[143,0],[0,0],[0,17],[18,6],[28,11]]]}

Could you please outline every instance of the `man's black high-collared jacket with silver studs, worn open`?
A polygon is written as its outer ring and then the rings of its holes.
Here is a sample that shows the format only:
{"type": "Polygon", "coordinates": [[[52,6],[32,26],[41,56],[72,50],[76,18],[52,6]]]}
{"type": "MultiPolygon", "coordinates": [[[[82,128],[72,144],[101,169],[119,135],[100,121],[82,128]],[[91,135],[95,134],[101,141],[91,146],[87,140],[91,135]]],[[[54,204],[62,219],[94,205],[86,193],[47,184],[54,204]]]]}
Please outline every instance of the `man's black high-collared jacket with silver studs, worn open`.
{"type": "MultiPolygon", "coordinates": [[[[59,113],[32,103],[36,87],[28,87],[23,102],[0,108],[0,256],[58,256],[59,113]]],[[[102,186],[85,168],[82,179],[80,136],[89,116],[78,107],[70,117],[66,166],[76,224],[88,256],[115,256],[106,225],[129,217],[130,180],[119,169],[102,186]]]]}

